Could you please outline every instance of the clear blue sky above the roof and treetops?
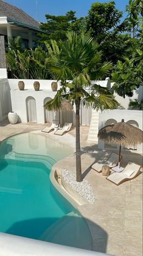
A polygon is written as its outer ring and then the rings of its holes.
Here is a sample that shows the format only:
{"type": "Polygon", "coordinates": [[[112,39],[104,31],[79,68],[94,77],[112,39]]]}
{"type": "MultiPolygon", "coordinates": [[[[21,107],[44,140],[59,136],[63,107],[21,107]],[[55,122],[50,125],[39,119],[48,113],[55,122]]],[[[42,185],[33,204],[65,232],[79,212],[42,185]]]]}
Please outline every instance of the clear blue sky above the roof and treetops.
{"type": "MultiPolygon", "coordinates": [[[[8,2],[24,12],[29,14],[37,21],[45,22],[45,14],[50,15],[65,15],[69,10],[76,12],[77,18],[84,17],[88,14],[88,10],[91,7],[94,0],[3,0],[8,2]]],[[[98,0],[97,2],[110,2],[111,0],[98,0]]],[[[114,0],[116,2],[116,8],[124,11],[125,18],[125,6],[127,6],[129,0],[114,0]]]]}

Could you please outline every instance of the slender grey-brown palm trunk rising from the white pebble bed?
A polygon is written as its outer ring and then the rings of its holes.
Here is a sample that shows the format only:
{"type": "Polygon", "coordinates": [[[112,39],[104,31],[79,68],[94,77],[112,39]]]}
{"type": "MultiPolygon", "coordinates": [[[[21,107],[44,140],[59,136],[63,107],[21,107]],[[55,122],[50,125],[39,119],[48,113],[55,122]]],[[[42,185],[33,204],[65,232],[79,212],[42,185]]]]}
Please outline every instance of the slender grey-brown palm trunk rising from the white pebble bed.
{"type": "Polygon", "coordinates": [[[80,156],[80,98],[75,100],[76,114],[76,180],[82,181],[82,167],[81,167],[81,156],[80,156]]]}

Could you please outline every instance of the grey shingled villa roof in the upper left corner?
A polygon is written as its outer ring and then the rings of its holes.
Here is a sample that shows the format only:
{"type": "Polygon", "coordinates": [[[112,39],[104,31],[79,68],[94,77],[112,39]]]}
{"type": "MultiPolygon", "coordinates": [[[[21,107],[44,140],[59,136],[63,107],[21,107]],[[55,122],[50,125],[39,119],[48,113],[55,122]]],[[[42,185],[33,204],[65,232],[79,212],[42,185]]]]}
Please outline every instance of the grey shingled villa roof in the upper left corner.
{"type": "Polygon", "coordinates": [[[35,29],[39,29],[39,23],[36,20],[23,12],[23,10],[2,0],[0,0],[0,17],[7,17],[9,20],[19,21],[20,23],[27,24],[27,26],[30,25],[35,29]]]}

